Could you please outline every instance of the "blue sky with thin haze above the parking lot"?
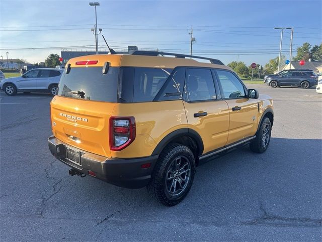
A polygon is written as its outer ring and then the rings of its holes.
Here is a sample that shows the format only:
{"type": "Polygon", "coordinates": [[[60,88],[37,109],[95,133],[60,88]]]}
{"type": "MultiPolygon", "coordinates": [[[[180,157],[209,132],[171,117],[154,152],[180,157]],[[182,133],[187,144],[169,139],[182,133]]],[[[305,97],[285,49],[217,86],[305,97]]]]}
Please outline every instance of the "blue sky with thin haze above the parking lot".
{"type": "MultiPolygon", "coordinates": [[[[280,30],[294,27],[293,49],[320,44],[322,1],[99,1],[98,27],[115,49],[137,45],[265,65],[278,56],[280,30]]],[[[89,1],[0,1],[0,55],[41,62],[60,49],[90,50],[94,7],[89,1]],[[13,31],[15,30],[15,31],[13,31]],[[21,50],[20,48],[43,48],[21,50]]],[[[283,37],[289,56],[290,31],[283,37]]],[[[99,45],[105,47],[102,36],[99,45]]],[[[293,52],[293,55],[296,52],[293,52]]]]}

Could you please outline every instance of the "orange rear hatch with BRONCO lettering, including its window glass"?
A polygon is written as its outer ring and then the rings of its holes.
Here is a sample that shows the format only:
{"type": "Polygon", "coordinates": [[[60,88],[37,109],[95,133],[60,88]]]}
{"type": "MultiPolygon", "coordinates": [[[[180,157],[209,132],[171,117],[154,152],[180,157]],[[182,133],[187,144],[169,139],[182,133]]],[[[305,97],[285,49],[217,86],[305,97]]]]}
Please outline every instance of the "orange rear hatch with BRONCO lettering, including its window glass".
{"type": "Polygon", "coordinates": [[[62,142],[110,157],[109,118],[117,102],[119,67],[72,67],[62,75],[51,102],[54,136],[62,142]]]}

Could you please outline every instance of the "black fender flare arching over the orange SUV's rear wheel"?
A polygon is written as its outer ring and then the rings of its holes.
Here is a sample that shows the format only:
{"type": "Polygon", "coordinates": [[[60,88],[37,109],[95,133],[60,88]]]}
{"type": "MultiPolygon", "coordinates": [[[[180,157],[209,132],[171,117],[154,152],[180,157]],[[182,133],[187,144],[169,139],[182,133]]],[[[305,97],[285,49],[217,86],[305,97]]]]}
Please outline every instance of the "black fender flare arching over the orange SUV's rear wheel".
{"type": "Polygon", "coordinates": [[[170,134],[168,134],[165,138],[163,138],[163,140],[157,144],[151,155],[160,154],[168,144],[170,144],[173,140],[180,136],[189,136],[190,138],[194,139],[198,148],[198,156],[203,153],[203,142],[200,135],[192,129],[183,128],[173,131],[170,134]]]}

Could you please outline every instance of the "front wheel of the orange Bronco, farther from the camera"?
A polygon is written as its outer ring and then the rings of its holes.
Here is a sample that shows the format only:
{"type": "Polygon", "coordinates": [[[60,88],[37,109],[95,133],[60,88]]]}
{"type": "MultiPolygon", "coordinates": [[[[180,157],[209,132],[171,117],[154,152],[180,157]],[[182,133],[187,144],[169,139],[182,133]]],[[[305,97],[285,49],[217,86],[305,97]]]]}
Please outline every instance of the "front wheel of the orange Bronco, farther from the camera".
{"type": "Polygon", "coordinates": [[[260,129],[256,133],[256,138],[250,144],[251,150],[255,153],[265,152],[270,144],[271,133],[271,120],[268,117],[264,117],[260,129]]]}

